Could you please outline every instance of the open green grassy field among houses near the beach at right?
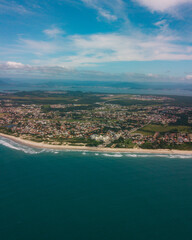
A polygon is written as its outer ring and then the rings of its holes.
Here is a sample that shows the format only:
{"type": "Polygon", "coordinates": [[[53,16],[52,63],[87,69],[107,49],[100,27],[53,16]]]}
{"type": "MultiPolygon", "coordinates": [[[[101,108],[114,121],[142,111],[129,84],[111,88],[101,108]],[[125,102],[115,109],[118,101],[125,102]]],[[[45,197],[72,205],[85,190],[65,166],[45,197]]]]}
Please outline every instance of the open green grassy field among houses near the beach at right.
{"type": "Polygon", "coordinates": [[[166,132],[185,132],[192,133],[192,127],[189,126],[168,126],[168,125],[155,125],[149,124],[135,133],[141,133],[143,135],[153,135],[155,132],[166,133],[166,132]]]}

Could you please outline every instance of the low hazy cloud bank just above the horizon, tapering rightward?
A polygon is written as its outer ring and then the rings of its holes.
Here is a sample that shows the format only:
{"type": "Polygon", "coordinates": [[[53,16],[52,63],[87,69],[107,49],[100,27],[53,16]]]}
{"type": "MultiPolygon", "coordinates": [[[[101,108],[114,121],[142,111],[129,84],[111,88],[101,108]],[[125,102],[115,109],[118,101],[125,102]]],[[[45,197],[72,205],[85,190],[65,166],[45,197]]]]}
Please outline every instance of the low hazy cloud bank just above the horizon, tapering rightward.
{"type": "Polygon", "coordinates": [[[0,62],[0,78],[86,80],[86,81],[123,81],[123,82],[167,82],[179,78],[155,74],[108,73],[102,71],[76,70],[60,66],[38,66],[19,62],[0,62]]]}

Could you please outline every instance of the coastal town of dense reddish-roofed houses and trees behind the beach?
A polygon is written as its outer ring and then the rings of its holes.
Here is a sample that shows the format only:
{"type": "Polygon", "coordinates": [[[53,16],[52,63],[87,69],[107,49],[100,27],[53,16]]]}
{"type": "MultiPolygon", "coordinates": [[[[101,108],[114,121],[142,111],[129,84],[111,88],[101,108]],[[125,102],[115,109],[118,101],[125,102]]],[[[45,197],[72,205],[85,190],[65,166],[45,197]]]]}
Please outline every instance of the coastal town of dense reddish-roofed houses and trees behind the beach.
{"type": "Polygon", "coordinates": [[[77,96],[71,103],[42,104],[1,94],[0,132],[52,145],[192,149],[192,106],[170,97],[131,95],[132,104],[99,97],[90,104],[77,96]]]}

